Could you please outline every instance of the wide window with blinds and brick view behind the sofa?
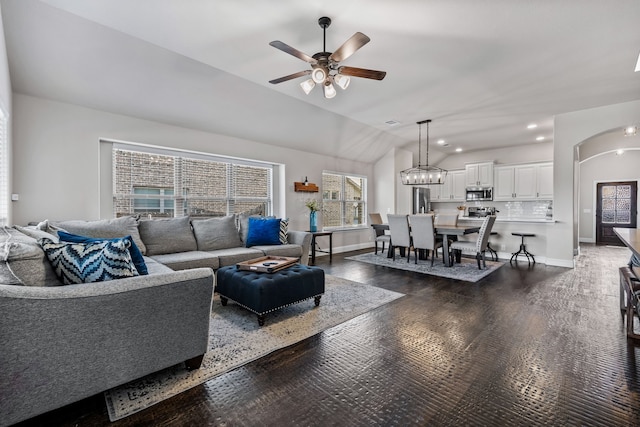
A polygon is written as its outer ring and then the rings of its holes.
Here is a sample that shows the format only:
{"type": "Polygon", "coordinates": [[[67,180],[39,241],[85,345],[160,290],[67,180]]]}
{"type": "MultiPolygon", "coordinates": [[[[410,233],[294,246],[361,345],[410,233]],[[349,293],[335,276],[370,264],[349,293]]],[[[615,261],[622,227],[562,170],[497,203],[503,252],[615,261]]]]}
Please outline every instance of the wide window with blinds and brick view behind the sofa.
{"type": "Polygon", "coordinates": [[[272,211],[272,165],[169,150],[137,151],[120,144],[112,153],[116,217],[210,218],[272,211]]]}

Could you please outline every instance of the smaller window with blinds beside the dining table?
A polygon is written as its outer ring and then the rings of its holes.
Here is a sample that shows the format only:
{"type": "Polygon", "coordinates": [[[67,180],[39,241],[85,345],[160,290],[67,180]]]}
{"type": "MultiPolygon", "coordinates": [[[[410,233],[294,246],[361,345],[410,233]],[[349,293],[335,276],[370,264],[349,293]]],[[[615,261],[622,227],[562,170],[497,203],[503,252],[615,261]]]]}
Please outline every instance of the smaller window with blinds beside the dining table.
{"type": "Polygon", "coordinates": [[[322,224],[357,227],[365,224],[367,178],[335,172],[322,173],[322,224]]]}

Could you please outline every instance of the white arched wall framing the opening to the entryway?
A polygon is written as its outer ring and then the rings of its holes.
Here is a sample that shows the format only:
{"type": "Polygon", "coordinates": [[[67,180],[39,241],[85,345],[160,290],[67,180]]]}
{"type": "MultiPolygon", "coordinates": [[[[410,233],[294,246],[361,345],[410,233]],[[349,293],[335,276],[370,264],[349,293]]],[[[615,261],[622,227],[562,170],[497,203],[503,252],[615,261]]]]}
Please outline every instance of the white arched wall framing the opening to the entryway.
{"type": "Polygon", "coordinates": [[[577,191],[579,171],[575,147],[586,139],[614,128],[638,122],[640,101],[561,114],[554,119],[553,215],[557,220],[547,240],[547,257],[558,263],[573,261],[578,248],[577,191]]]}

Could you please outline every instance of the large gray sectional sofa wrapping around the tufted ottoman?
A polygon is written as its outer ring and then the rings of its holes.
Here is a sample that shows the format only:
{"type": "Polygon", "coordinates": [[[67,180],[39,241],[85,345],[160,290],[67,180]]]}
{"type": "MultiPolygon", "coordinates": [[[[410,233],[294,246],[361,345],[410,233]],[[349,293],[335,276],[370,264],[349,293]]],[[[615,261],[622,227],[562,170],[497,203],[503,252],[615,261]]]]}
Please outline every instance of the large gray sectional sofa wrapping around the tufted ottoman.
{"type": "Polygon", "coordinates": [[[199,366],[214,271],[263,255],[308,263],[311,235],[245,247],[248,215],[214,219],[43,221],[0,229],[0,425],[48,412],[160,369],[199,366]],[[57,231],[130,235],[148,275],[63,285],[39,239],[57,231]]]}

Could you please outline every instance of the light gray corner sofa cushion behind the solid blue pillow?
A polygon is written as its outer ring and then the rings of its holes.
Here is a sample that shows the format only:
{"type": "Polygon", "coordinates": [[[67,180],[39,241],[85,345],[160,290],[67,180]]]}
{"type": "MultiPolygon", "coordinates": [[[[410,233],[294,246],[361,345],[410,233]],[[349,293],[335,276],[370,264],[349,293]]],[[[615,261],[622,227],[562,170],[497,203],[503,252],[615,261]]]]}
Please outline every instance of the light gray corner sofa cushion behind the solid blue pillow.
{"type": "Polygon", "coordinates": [[[62,228],[63,231],[87,237],[115,239],[118,237],[131,236],[143,254],[147,251],[138,232],[138,220],[132,216],[97,221],[61,221],[55,222],[53,225],[62,228]]]}

